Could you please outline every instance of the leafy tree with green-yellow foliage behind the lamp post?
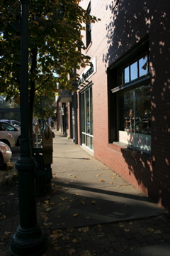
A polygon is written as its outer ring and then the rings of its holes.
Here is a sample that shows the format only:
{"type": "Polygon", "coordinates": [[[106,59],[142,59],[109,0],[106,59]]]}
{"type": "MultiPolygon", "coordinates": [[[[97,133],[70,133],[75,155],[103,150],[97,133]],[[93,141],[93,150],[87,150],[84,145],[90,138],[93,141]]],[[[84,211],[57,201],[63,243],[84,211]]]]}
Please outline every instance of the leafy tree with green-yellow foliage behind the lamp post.
{"type": "MultiPolygon", "coordinates": [[[[35,95],[47,97],[58,88],[72,89],[78,79],[75,68],[90,65],[81,30],[86,22],[97,18],[79,6],[80,0],[32,0],[29,5],[29,106],[30,125],[33,119],[35,95]],[[74,68],[74,69],[73,69],[74,68]],[[57,87],[57,84],[59,87],[57,87]]],[[[6,99],[19,102],[20,3],[18,0],[0,0],[0,89],[6,99]]],[[[30,133],[32,134],[32,132],[30,133]]]]}

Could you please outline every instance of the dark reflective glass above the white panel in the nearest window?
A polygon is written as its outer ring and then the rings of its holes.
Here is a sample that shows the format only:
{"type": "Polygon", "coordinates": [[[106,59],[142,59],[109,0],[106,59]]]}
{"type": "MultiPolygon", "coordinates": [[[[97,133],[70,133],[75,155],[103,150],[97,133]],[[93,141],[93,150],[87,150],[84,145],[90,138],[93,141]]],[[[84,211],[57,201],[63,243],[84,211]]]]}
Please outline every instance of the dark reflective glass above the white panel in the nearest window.
{"type": "Polygon", "coordinates": [[[118,102],[119,130],[151,134],[149,85],[120,92],[118,102]]]}

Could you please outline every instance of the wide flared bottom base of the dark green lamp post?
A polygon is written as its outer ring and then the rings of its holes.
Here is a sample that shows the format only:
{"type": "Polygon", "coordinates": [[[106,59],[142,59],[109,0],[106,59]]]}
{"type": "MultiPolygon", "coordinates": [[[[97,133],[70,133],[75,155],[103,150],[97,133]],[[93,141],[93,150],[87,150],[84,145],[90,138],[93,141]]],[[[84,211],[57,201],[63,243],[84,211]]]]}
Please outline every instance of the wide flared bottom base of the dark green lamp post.
{"type": "Polygon", "coordinates": [[[39,226],[23,229],[19,225],[16,233],[11,235],[9,252],[14,256],[40,255],[47,249],[48,243],[47,234],[39,226]]]}

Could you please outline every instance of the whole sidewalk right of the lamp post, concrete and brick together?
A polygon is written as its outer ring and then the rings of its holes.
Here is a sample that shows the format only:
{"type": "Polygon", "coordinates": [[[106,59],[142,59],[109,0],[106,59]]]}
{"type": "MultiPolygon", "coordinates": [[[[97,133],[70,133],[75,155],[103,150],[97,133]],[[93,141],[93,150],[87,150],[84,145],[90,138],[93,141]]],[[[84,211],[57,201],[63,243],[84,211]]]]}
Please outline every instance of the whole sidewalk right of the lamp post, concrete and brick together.
{"type": "Polygon", "coordinates": [[[43,223],[50,245],[42,255],[169,254],[169,213],[60,132],[52,174],[52,192],[41,198],[42,207],[50,201],[43,223]]]}

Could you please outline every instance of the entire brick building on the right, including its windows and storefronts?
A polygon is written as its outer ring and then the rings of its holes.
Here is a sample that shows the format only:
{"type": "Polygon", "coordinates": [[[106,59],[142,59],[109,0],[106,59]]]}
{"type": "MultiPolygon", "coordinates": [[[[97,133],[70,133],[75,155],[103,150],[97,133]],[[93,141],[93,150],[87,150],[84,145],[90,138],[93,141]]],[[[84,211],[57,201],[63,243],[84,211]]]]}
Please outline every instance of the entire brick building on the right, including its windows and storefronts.
{"type": "Polygon", "coordinates": [[[69,137],[169,210],[169,1],[80,4],[101,21],[85,25],[93,67],[65,101],[69,137]]]}

